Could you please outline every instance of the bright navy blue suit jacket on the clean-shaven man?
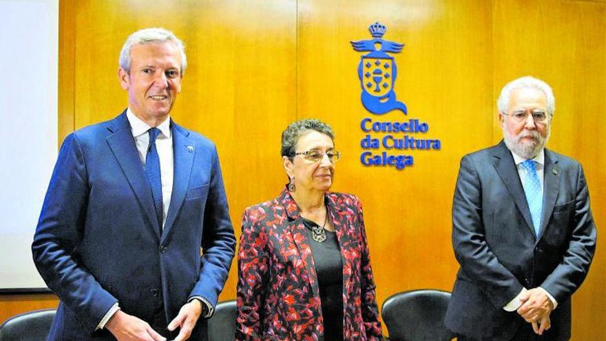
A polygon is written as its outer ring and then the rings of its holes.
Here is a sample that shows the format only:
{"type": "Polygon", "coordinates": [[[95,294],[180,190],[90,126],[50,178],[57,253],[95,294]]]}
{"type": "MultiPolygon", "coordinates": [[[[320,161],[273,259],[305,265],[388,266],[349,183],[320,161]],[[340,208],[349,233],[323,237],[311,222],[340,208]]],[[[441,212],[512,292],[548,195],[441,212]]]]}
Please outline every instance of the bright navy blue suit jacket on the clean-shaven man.
{"type": "MultiPolygon", "coordinates": [[[[147,321],[160,300],[167,321],[191,296],[216,304],[236,244],[216,147],[172,121],[171,133],[174,186],[161,235],[125,112],[65,138],[32,244],[61,300],[50,340],[113,340],[95,329],[116,302],[147,321]]],[[[205,340],[204,324],[194,340],[205,340]]]]}

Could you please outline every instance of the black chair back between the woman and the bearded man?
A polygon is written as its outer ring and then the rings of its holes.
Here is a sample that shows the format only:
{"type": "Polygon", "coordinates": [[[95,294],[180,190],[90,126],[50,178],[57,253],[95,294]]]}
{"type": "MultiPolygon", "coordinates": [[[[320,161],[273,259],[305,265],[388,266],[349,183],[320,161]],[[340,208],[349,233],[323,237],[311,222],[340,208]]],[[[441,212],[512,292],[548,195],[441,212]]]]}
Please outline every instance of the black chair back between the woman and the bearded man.
{"type": "Polygon", "coordinates": [[[412,290],[396,293],[383,303],[382,317],[390,341],[450,341],[456,334],[444,327],[450,293],[412,290]]]}

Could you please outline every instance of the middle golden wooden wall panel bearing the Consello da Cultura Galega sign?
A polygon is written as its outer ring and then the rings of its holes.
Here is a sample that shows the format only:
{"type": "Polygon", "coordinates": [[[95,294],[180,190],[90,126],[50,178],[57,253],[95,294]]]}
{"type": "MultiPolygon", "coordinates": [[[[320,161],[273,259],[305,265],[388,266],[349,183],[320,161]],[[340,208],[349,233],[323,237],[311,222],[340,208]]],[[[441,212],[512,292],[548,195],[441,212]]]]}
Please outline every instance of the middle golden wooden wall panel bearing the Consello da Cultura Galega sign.
{"type": "Polygon", "coordinates": [[[490,2],[324,3],[299,1],[298,113],[324,119],[337,134],[343,156],[334,189],[356,194],[364,205],[378,303],[398,291],[450,291],[457,271],[450,207],[459,159],[489,145],[492,132],[490,2]],[[370,39],[368,25],[377,19],[387,26],[384,39],[406,44],[394,54],[395,91],[408,105],[406,116],[376,116],[360,101],[357,66],[363,53],[349,42],[370,39]],[[401,151],[415,158],[404,170],[365,167],[359,160],[366,135],[359,125],[365,117],[425,121],[426,136],[409,135],[439,138],[441,150],[401,151]]]}

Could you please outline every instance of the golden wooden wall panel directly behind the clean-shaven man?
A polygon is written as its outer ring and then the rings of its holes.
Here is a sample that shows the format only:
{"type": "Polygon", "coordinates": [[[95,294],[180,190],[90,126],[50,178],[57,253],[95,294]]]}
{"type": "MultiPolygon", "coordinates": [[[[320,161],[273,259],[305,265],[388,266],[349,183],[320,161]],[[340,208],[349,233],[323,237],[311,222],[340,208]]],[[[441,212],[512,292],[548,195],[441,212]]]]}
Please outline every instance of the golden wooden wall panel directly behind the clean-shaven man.
{"type": "MultiPolygon", "coordinates": [[[[79,1],[76,28],[88,29],[76,35],[76,128],[126,107],[116,73],[126,37],[145,27],[172,30],[186,44],[188,66],[171,116],[216,143],[240,236],[244,208],[275,197],[286,182],[280,133],[296,115],[295,10],[295,1],[279,0],[79,1]]],[[[235,264],[222,299],[236,296],[235,264]]]]}

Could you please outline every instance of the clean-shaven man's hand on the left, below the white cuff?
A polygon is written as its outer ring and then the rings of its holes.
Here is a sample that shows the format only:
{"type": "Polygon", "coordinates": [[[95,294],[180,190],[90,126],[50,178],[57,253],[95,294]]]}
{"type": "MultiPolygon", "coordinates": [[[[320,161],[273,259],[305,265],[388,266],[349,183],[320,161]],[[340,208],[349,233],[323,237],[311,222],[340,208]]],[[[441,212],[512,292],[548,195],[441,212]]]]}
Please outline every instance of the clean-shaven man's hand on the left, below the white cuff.
{"type": "Polygon", "coordinates": [[[166,341],[147,322],[121,310],[116,311],[107,321],[105,329],[114,334],[118,341],[166,341]]]}

